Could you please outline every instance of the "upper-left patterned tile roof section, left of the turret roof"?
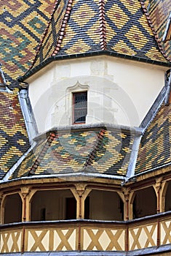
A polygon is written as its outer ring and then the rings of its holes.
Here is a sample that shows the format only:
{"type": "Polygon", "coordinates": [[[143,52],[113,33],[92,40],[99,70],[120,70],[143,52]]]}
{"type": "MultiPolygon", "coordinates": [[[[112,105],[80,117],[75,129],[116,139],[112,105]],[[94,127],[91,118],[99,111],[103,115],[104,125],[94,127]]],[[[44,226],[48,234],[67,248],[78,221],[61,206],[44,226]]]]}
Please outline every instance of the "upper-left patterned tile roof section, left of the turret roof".
{"type": "Polygon", "coordinates": [[[53,5],[53,0],[1,0],[0,62],[10,88],[31,66],[53,5]]]}

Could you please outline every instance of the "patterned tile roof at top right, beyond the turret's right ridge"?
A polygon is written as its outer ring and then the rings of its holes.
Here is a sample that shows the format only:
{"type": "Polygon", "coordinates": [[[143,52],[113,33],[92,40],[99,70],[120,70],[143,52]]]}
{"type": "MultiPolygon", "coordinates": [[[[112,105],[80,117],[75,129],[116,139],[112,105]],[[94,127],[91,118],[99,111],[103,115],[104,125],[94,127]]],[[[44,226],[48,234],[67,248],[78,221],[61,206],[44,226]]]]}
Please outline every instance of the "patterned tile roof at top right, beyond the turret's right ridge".
{"type": "Polygon", "coordinates": [[[164,51],[171,61],[171,41],[162,42],[164,31],[166,29],[167,20],[171,12],[171,1],[170,0],[145,0],[146,8],[151,18],[152,26],[159,37],[159,41],[164,48],[164,51]]]}

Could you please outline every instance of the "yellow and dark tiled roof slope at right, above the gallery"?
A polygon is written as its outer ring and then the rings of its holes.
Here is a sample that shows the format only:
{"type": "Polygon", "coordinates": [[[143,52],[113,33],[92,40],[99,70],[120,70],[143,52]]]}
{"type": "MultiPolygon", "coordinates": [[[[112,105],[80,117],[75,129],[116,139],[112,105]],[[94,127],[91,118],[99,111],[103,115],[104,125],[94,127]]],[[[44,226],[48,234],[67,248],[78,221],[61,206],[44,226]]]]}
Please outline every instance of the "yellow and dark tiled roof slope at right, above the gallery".
{"type": "Polygon", "coordinates": [[[171,105],[162,105],[140,143],[135,173],[171,162],[171,105]]]}

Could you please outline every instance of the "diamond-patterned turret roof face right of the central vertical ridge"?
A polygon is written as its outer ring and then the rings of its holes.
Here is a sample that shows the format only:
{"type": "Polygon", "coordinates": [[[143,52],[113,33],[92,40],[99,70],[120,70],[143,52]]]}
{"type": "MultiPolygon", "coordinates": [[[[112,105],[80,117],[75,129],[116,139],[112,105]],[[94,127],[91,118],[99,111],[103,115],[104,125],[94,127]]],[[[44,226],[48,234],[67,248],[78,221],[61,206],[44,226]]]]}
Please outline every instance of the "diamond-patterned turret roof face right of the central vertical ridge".
{"type": "Polygon", "coordinates": [[[106,1],[106,22],[116,33],[111,39],[108,39],[107,35],[108,50],[164,61],[164,56],[159,53],[154,42],[154,34],[148,25],[140,1],[106,1]],[[126,45],[126,49],[123,45],[126,45]]]}

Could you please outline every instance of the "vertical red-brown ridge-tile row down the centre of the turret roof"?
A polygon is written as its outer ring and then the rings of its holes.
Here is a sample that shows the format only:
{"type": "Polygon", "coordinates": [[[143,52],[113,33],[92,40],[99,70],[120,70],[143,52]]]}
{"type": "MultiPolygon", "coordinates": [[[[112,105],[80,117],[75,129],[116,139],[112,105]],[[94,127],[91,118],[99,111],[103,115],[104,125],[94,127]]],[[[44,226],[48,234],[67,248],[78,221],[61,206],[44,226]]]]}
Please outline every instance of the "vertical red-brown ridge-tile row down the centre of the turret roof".
{"type": "Polygon", "coordinates": [[[99,20],[100,20],[100,47],[107,49],[106,42],[106,18],[105,18],[105,0],[99,0],[99,20]]]}

